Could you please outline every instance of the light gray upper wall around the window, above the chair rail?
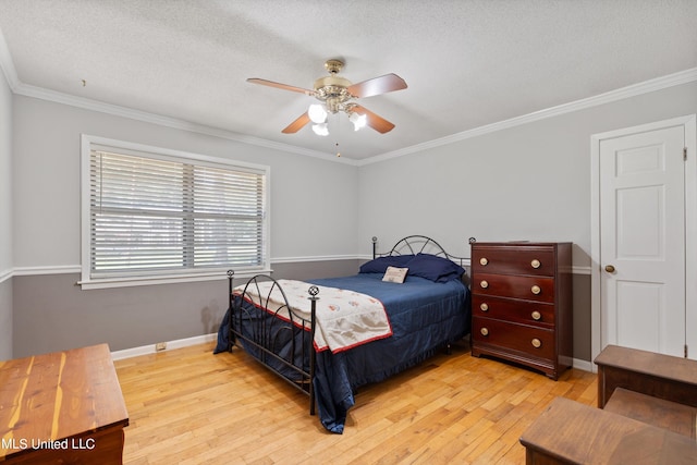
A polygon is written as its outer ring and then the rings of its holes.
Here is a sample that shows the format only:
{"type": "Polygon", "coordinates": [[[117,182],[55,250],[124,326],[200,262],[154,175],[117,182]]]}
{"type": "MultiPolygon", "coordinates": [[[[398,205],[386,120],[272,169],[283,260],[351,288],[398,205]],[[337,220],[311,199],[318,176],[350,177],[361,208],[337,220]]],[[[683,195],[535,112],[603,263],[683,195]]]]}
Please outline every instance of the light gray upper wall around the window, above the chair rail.
{"type": "Polygon", "coordinates": [[[80,267],[81,134],[267,164],[271,256],[356,254],[358,170],[329,154],[323,160],[24,96],[14,98],[13,122],[15,268],[80,267]]]}

